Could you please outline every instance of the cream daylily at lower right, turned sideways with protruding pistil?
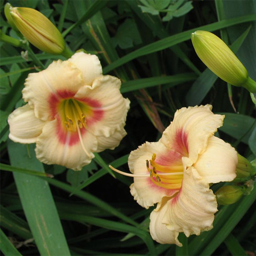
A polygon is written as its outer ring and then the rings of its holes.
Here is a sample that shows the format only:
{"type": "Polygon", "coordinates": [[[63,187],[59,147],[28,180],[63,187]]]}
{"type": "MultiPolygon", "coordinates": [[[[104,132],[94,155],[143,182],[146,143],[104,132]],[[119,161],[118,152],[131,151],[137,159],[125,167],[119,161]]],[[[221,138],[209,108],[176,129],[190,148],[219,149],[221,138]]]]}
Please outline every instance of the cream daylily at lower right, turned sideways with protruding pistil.
{"type": "Polygon", "coordinates": [[[211,109],[177,110],[158,142],[146,142],[130,153],[130,192],[145,208],[157,203],[150,234],[161,244],[182,246],[179,232],[188,237],[212,229],[217,202],[209,183],[236,177],[237,152],[214,136],[224,116],[211,109]]]}

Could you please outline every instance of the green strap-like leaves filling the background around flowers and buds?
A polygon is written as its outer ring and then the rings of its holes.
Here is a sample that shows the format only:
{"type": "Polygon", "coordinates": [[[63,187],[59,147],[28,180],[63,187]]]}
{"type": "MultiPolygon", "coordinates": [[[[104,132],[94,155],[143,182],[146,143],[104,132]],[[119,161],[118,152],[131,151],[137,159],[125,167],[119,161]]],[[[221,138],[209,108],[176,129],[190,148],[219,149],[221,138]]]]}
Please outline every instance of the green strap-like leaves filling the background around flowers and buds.
{"type": "MultiPolygon", "coordinates": [[[[213,105],[225,115],[217,136],[249,161],[256,156],[255,106],[250,93],[219,79],[197,57],[191,32],[213,32],[229,45],[256,80],[256,9],[253,0],[10,0],[37,9],[62,33],[72,52],[96,54],[103,74],[121,79],[130,100],[127,135],[114,150],[95,154],[81,171],[44,165],[34,144],[8,139],[9,114],[24,105],[31,72],[62,55],[0,42],[1,68],[1,251],[4,255],[254,255],[256,189],[235,204],[219,206],[214,228],[183,247],[158,244],[149,233],[154,207],[140,207],[130,194],[127,159],[145,141],[157,141],[177,109],[213,105]],[[112,175],[111,175],[112,174],[112,175]],[[52,175],[54,178],[51,178],[52,175]]],[[[20,40],[0,4],[1,35],[20,40]]],[[[12,41],[14,42],[14,41],[12,41]]],[[[61,81],[60,81],[61,82],[61,81]]],[[[223,184],[211,187],[215,192],[223,184]]]]}

